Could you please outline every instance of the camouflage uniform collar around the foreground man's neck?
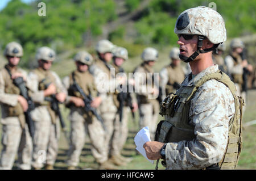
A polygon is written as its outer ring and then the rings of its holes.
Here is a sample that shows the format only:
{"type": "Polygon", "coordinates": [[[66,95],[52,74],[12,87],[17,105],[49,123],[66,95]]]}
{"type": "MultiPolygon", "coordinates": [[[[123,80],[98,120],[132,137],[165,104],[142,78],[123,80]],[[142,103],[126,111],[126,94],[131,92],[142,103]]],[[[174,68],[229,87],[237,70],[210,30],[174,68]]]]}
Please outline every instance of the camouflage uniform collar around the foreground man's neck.
{"type": "Polygon", "coordinates": [[[201,71],[199,74],[197,74],[192,79],[189,79],[189,77],[192,76],[192,73],[190,73],[187,75],[187,77],[185,78],[185,80],[183,81],[183,83],[181,85],[193,86],[195,84],[195,82],[197,82],[200,78],[204,77],[206,74],[214,73],[216,71],[218,71],[218,65],[209,66],[207,69],[204,69],[203,71],[201,71]]]}

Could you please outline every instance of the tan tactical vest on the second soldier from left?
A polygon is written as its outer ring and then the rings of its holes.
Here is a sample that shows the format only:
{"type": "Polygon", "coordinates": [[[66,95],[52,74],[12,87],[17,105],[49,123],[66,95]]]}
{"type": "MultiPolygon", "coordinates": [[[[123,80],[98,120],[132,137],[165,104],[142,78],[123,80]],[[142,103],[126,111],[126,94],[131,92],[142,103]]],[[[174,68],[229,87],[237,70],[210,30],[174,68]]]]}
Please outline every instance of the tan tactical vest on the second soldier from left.
{"type": "MultiPolygon", "coordinates": [[[[47,86],[50,83],[53,83],[56,86],[56,80],[51,71],[49,70],[43,70],[42,68],[37,68],[32,70],[33,73],[35,73],[38,76],[38,90],[46,90],[47,86]]],[[[56,86],[57,89],[57,86],[56,86]]],[[[60,90],[56,90],[56,92],[59,92],[60,90]]],[[[49,112],[49,115],[51,116],[52,123],[56,123],[56,113],[51,108],[51,103],[44,100],[42,103],[38,104],[36,103],[35,106],[47,106],[47,110],[49,112]]]]}

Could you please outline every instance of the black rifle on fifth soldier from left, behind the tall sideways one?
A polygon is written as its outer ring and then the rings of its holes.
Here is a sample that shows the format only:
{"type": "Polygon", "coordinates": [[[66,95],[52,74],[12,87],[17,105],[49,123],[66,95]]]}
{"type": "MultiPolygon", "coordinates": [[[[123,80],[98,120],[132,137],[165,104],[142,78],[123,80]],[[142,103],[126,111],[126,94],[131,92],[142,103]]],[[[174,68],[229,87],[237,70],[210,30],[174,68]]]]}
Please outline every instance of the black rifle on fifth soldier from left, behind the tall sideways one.
{"type": "MultiPolygon", "coordinates": [[[[120,88],[122,89],[123,85],[120,85],[120,88]]],[[[127,87],[128,90],[128,87],[127,87]]],[[[130,92],[119,92],[117,94],[117,100],[119,102],[119,108],[118,108],[118,113],[119,113],[119,121],[122,122],[122,117],[123,117],[123,106],[129,106],[131,109],[131,115],[133,116],[133,120],[135,122],[135,115],[133,112],[133,103],[131,101],[131,94],[130,92]]]]}

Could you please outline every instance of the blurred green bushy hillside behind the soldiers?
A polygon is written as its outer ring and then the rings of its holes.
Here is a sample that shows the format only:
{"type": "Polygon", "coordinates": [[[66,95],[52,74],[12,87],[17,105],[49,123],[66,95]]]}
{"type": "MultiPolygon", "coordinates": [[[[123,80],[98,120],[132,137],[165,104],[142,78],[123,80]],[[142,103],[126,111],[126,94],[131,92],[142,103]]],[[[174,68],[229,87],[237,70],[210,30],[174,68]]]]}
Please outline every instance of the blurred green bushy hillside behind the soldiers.
{"type": "MultiPolygon", "coordinates": [[[[208,6],[210,2],[213,1],[40,0],[26,4],[12,0],[0,12],[0,47],[3,50],[10,41],[22,44],[21,64],[26,68],[34,65],[31,62],[35,51],[43,45],[57,54],[83,47],[93,53],[95,42],[102,38],[126,47],[129,56],[136,57],[146,46],[162,50],[176,45],[177,16],[185,9],[208,6]],[[46,4],[46,16],[38,15],[39,2],[46,4]]],[[[228,39],[256,33],[255,0],[214,3],[225,19],[228,39]]],[[[61,60],[70,58],[72,53],[61,60]]]]}

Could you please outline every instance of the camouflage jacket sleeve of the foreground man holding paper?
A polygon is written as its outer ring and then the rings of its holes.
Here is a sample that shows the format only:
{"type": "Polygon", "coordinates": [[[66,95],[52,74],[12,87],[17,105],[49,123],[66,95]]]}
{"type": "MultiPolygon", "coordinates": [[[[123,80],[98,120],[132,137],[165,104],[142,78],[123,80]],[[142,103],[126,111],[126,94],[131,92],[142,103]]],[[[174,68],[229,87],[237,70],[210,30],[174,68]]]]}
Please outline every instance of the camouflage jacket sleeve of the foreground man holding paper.
{"type": "Polygon", "coordinates": [[[167,144],[167,169],[203,169],[219,162],[233,115],[234,99],[228,87],[216,80],[205,82],[191,100],[189,111],[196,138],[167,144]]]}

